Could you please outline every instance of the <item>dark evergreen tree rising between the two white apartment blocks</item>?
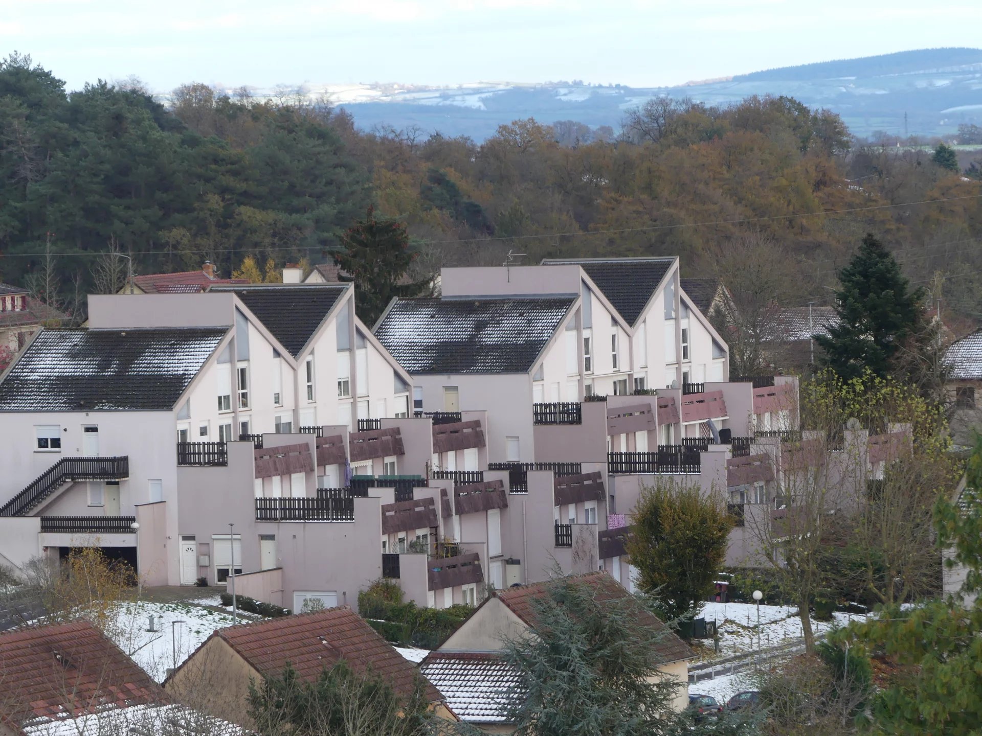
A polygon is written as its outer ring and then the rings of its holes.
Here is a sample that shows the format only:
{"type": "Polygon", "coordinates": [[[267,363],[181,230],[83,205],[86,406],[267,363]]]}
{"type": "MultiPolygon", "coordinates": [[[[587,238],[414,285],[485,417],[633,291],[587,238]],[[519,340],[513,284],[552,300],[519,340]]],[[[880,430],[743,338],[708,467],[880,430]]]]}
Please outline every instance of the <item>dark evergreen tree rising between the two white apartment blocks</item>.
{"type": "Polygon", "coordinates": [[[345,233],[342,247],[334,254],[334,262],[347,273],[342,281],[355,282],[355,310],[369,328],[394,297],[418,296],[425,291],[425,283],[405,279],[414,257],[406,226],[376,218],[374,207],[368,207],[365,219],[345,233]]]}

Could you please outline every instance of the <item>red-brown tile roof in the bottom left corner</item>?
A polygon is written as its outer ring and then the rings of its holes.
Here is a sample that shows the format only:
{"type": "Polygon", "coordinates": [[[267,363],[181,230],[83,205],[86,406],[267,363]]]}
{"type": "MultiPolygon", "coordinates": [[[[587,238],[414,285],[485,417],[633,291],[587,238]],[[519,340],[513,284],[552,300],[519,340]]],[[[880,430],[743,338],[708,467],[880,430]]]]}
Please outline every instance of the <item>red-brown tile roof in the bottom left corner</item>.
{"type": "Polygon", "coordinates": [[[88,621],[0,634],[0,722],[167,701],[88,621]]]}

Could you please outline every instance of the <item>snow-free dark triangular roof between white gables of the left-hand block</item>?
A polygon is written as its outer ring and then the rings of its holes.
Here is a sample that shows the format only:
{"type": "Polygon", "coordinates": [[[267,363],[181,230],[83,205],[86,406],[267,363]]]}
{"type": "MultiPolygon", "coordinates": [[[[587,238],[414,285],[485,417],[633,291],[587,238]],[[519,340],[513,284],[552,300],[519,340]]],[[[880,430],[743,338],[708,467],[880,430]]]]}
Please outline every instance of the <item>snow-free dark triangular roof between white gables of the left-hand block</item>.
{"type": "Polygon", "coordinates": [[[212,287],[232,291],[296,358],[323,324],[347,284],[253,284],[212,287]]]}

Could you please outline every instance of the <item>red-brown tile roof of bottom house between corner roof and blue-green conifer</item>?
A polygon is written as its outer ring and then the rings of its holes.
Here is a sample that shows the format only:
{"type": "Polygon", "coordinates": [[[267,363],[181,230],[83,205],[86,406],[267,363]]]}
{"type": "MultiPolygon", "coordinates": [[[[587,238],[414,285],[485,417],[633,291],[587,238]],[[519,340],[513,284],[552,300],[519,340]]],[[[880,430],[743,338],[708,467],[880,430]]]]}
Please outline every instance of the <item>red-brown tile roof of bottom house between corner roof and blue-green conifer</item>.
{"type": "MultiPolygon", "coordinates": [[[[344,659],[355,672],[370,668],[404,698],[417,677],[415,667],[347,606],[230,626],[212,636],[262,675],[282,674],[290,662],[300,677],[313,680],[344,659]]],[[[435,687],[423,684],[428,702],[443,700],[435,687]]]]}

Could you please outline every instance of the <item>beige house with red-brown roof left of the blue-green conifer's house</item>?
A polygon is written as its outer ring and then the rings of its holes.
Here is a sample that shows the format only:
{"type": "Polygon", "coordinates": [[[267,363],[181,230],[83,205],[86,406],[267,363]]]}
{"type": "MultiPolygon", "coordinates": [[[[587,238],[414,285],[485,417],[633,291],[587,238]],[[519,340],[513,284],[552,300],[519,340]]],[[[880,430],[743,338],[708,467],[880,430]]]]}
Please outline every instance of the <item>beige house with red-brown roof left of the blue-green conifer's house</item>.
{"type": "Polygon", "coordinates": [[[422,687],[440,717],[457,720],[440,691],[347,606],[218,629],[171,673],[164,689],[183,703],[249,726],[250,681],[281,675],[289,663],[312,682],[342,659],[355,673],[379,676],[401,698],[422,687]]]}

